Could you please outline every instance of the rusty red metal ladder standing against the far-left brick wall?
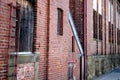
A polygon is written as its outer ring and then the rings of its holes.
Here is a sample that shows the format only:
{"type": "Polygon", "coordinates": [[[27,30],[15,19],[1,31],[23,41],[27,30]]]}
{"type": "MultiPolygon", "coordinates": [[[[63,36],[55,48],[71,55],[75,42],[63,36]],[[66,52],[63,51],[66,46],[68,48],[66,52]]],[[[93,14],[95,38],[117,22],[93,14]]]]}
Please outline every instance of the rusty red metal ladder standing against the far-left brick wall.
{"type": "Polygon", "coordinates": [[[10,77],[12,79],[17,80],[17,65],[18,65],[18,47],[19,47],[19,33],[20,33],[20,6],[13,6],[12,3],[8,4],[10,7],[10,19],[9,19],[9,35],[8,35],[8,65],[7,65],[7,79],[9,80],[10,77]],[[13,22],[14,21],[14,22],[13,22]],[[12,29],[15,29],[15,58],[12,64],[10,64],[11,57],[11,38],[12,38],[12,29]],[[10,72],[10,68],[14,68],[13,73],[10,72]]]}

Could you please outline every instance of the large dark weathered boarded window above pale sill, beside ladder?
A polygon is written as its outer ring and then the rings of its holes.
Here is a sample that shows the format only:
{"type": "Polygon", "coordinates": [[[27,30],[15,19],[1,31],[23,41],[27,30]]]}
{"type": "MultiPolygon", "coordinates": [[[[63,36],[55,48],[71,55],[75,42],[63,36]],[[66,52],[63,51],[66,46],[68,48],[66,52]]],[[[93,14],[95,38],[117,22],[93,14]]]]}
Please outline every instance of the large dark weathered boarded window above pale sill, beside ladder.
{"type": "Polygon", "coordinates": [[[20,8],[19,51],[33,51],[34,6],[30,1],[18,1],[20,8]],[[26,3],[26,4],[24,4],[26,3]]]}

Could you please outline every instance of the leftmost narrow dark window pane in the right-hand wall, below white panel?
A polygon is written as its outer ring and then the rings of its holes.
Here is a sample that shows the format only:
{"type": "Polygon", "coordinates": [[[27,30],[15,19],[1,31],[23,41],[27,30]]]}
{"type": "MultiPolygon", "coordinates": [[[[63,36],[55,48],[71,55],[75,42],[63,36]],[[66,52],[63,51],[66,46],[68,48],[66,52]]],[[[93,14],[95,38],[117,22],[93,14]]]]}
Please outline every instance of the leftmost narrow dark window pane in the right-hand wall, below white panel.
{"type": "Polygon", "coordinates": [[[97,39],[97,11],[93,10],[93,37],[97,39]]]}

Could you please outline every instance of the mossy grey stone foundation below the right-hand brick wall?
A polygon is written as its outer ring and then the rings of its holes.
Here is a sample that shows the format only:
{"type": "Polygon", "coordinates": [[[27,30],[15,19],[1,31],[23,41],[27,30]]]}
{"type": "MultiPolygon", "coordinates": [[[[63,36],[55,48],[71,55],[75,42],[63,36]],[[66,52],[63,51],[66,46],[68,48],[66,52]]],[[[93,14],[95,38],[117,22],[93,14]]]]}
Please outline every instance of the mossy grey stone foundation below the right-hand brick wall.
{"type": "Polygon", "coordinates": [[[120,55],[92,55],[87,57],[88,79],[93,80],[120,66],[120,55]]]}

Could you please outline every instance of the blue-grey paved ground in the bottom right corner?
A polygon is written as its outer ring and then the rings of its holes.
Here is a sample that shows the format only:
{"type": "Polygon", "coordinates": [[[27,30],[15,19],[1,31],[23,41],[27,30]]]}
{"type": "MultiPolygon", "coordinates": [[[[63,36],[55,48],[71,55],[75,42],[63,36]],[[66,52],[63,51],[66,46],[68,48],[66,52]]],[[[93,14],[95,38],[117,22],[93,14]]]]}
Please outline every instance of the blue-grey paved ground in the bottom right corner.
{"type": "Polygon", "coordinates": [[[94,80],[120,80],[120,68],[117,68],[94,80]]]}

